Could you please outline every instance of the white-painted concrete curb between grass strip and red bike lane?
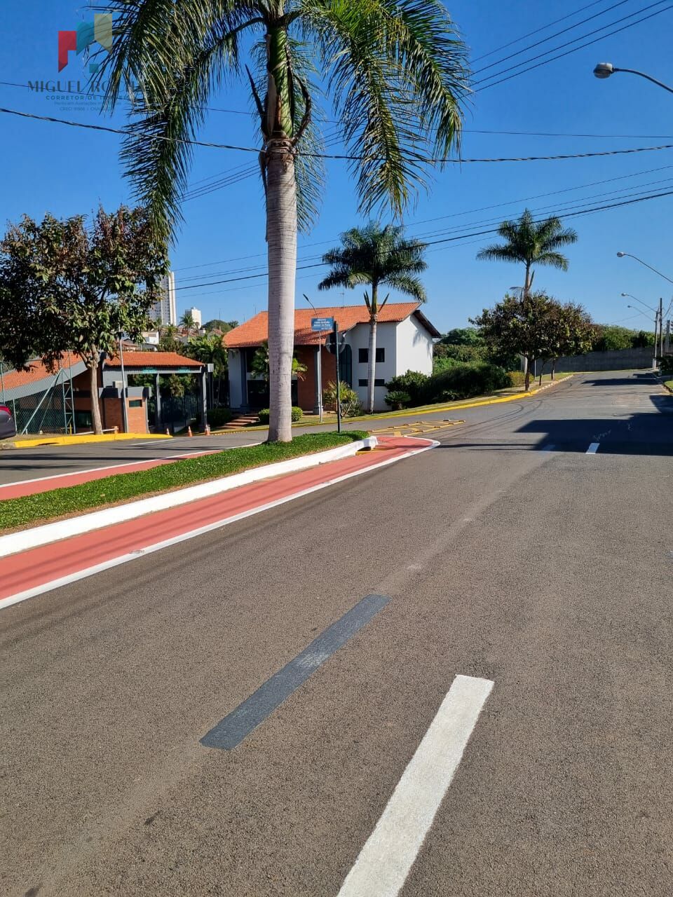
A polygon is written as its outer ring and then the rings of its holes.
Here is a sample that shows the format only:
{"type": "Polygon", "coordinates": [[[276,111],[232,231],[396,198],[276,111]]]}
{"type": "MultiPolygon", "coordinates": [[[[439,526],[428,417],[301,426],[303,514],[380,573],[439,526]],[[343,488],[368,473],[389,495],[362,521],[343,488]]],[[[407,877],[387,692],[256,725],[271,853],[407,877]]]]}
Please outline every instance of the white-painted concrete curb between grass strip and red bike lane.
{"type": "Polygon", "coordinates": [[[296,471],[306,470],[309,467],[328,464],[329,461],[338,461],[341,458],[356,455],[357,452],[363,451],[363,449],[375,448],[377,444],[378,440],[376,437],[370,436],[364,440],[349,442],[345,446],[328,448],[327,451],[293,457],[287,461],[278,461],[275,464],[253,467],[251,470],[241,471],[240,474],[223,476],[218,480],[198,483],[196,486],[187,486],[185,489],[178,489],[175,492],[164,492],[162,495],[153,495],[148,499],[129,501],[127,504],[116,505],[114,508],[95,510],[82,514],[79,517],[57,520],[55,523],[46,523],[41,527],[22,529],[16,533],[9,533],[7,536],[0,536],[0,558],[26,551],[29,548],[37,548],[39,545],[59,542],[61,539],[67,539],[70,536],[81,536],[83,533],[91,532],[92,529],[110,527],[116,523],[143,517],[145,514],[152,514],[158,510],[176,508],[179,505],[188,504],[190,501],[210,498],[220,492],[229,492],[239,486],[256,483],[258,480],[293,474],[296,471]]]}

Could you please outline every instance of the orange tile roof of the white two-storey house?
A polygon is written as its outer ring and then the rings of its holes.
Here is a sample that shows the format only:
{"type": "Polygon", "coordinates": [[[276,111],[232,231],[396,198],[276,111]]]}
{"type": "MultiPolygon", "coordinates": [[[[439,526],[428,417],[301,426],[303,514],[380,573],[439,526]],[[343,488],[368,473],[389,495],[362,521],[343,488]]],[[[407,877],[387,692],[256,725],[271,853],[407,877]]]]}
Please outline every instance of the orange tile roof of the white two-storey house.
{"type": "MultiPolygon", "coordinates": [[[[383,306],[379,313],[380,323],[398,323],[409,315],[415,314],[431,335],[439,336],[433,325],[424,315],[418,311],[418,302],[389,302],[383,306]]],[[[310,329],[311,318],[336,318],[337,326],[342,332],[350,330],[356,324],[366,324],[369,320],[369,312],[363,305],[328,306],[320,309],[295,309],[294,311],[294,344],[317,345],[324,334],[310,329]]],[[[247,346],[255,346],[268,338],[268,316],[266,311],[260,311],[254,318],[245,321],[240,327],[234,327],[229,333],[224,334],[224,345],[228,349],[242,349],[247,346]]]]}

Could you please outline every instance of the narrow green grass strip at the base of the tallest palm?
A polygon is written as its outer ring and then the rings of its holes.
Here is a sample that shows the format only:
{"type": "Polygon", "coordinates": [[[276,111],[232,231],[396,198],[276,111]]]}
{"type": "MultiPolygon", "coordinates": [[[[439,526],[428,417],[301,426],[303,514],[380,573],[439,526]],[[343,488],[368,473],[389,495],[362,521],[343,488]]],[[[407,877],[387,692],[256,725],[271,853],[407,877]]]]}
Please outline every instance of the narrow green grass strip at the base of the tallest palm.
{"type": "Polygon", "coordinates": [[[27,527],[132,499],[146,498],[158,492],[170,492],[184,486],[203,483],[205,480],[238,474],[251,467],[286,461],[291,457],[310,455],[327,448],[337,448],[354,440],[362,440],[367,435],[366,432],[356,430],[341,434],[305,433],[302,436],[295,436],[292,442],[229,448],[214,455],[186,458],[183,461],[153,467],[151,470],[106,476],[91,483],[80,483],[52,492],[7,499],[0,501],[0,530],[27,527]]]}

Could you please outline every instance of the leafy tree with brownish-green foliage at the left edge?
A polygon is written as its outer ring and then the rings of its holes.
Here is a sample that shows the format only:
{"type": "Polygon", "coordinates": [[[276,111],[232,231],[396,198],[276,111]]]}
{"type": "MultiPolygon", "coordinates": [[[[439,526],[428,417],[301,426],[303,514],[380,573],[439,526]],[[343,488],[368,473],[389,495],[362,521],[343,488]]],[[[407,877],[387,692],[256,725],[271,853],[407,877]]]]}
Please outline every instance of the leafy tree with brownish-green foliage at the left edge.
{"type": "Polygon", "coordinates": [[[83,215],[41,223],[25,215],[0,243],[0,350],[16,368],[34,353],[52,370],[67,350],[78,353],[101,433],[101,353],[117,351],[120,333],[141,339],[167,270],[165,243],[144,210],[100,208],[90,224],[83,215]]]}

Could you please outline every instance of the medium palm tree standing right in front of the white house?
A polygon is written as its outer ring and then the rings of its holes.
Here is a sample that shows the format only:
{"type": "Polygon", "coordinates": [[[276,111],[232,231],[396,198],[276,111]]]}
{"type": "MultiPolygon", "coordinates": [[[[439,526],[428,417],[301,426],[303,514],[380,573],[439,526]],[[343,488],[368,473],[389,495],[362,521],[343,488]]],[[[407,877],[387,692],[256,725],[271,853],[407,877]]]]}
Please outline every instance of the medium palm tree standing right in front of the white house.
{"type": "Polygon", "coordinates": [[[371,288],[364,292],[364,304],[369,311],[369,350],[367,355],[367,409],[374,410],[374,382],[376,379],[376,326],[379,313],[388,296],[379,301],[379,287],[393,290],[425,301],[423,284],[415,276],[427,267],[423,260],[425,244],[406,239],[404,228],[369,222],[363,228],[354,227],[341,235],[341,246],[330,249],[322,260],[332,270],[318,284],[319,290],[334,286],[353,289],[363,283],[371,288]]]}

